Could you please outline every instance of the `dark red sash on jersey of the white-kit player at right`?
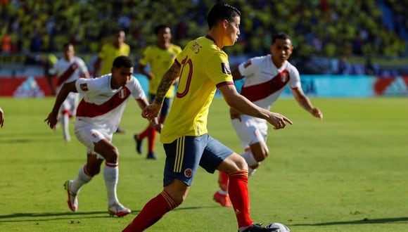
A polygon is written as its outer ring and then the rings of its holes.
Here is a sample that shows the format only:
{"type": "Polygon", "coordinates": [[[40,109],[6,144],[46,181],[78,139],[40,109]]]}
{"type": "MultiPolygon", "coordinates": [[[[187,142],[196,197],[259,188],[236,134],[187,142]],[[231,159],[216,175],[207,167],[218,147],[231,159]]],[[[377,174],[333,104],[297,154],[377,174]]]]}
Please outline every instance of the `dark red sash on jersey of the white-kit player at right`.
{"type": "Polygon", "coordinates": [[[243,86],[241,95],[248,98],[249,101],[258,101],[282,89],[286,86],[286,83],[289,82],[289,79],[291,79],[291,77],[289,76],[288,70],[283,70],[267,82],[243,86]]]}

